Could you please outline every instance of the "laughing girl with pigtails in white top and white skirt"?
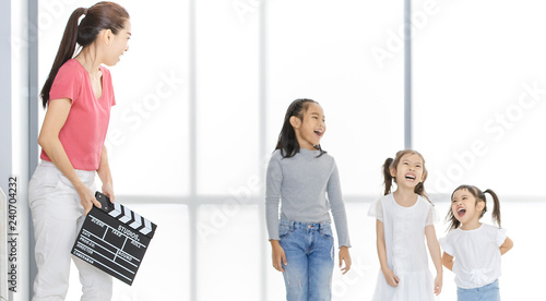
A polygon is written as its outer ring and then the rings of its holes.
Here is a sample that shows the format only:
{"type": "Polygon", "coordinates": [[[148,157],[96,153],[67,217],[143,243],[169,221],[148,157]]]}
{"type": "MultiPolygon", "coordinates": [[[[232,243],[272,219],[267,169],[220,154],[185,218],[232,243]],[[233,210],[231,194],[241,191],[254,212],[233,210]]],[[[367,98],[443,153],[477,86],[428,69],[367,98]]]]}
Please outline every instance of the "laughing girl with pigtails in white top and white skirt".
{"type": "Polygon", "coordinates": [[[423,156],[400,150],[383,165],[384,196],[368,212],[375,217],[381,270],[373,299],[377,301],[432,301],[442,288],[440,245],[436,238],[436,212],[425,192],[427,169],[423,156]],[[396,190],[391,193],[393,182],[396,190]],[[436,278],[428,268],[432,258],[436,278]]]}

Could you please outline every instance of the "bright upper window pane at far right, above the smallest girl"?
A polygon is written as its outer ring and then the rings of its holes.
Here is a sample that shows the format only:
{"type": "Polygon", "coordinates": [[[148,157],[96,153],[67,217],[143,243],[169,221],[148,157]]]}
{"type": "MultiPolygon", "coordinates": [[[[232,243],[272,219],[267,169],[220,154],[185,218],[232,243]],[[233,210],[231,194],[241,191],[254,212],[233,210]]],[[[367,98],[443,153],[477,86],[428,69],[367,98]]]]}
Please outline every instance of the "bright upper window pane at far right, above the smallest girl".
{"type": "MultiPolygon", "coordinates": [[[[414,1],[418,11],[429,1],[414,1]]],[[[438,1],[413,39],[414,137],[428,188],[544,195],[543,1],[438,1]]]]}

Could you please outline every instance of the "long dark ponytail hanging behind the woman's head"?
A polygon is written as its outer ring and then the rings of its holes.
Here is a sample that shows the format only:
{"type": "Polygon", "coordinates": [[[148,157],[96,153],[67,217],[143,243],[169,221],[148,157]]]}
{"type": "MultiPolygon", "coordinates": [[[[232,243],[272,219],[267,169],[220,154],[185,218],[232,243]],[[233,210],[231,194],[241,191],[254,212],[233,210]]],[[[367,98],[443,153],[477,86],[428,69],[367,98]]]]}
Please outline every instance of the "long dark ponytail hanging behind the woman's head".
{"type": "Polygon", "coordinates": [[[64,28],[64,34],[62,34],[59,50],[57,50],[57,57],[55,57],[54,65],[51,67],[51,71],[47,76],[44,87],[41,88],[40,97],[41,106],[44,108],[47,107],[47,103],[49,101],[49,91],[51,91],[55,76],[57,76],[59,69],[63,63],[72,59],[72,57],[74,56],[75,46],[78,43],[78,22],[80,17],[86,13],[86,11],[87,9],[79,8],[75,9],[70,15],[67,27],[64,28]]]}

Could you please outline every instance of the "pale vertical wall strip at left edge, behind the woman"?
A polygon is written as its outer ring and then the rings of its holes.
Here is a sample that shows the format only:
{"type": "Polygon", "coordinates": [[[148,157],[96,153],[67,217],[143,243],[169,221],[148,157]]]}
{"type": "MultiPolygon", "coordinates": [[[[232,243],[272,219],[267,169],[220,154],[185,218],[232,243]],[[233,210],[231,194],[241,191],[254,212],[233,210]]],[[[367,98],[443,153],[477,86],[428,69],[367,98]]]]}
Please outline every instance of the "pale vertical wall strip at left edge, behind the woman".
{"type": "MultiPolygon", "coordinates": [[[[15,221],[9,227],[16,239],[16,262],[10,262],[16,269],[15,282],[9,286],[10,300],[28,300],[29,290],[29,228],[28,228],[28,23],[27,1],[2,1],[0,3],[0,186],[8,195],[13,193],[16,178],[16,216],[5,216],[15,221]],[[12,183],[11,185],[9,183],[12,183]]],[[[11,245],[10,245],[11,246],[11,245]]],[[[10,248],[10,257],[11,257],[10,248]]],[[[12,277],[10,275],[10,280],[12,277]]],[[[2,284],[3,285],[3,284],[2,284]]]]}

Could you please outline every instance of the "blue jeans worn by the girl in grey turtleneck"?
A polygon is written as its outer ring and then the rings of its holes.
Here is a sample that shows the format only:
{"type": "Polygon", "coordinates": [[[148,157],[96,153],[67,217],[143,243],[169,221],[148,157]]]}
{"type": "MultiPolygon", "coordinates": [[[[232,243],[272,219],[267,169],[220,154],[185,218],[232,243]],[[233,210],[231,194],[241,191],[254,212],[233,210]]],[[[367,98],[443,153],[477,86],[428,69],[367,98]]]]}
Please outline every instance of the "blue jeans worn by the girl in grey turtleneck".
{"type": "Polygon", "coordinates": [[[286,300],[331,300],[334,238],[330,222],[281,220],[278,233],[287,261],[283,264],[286,300]]]}

